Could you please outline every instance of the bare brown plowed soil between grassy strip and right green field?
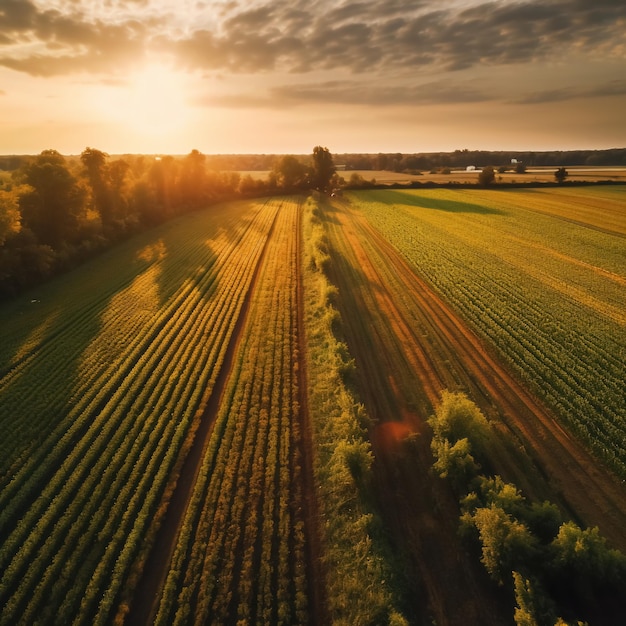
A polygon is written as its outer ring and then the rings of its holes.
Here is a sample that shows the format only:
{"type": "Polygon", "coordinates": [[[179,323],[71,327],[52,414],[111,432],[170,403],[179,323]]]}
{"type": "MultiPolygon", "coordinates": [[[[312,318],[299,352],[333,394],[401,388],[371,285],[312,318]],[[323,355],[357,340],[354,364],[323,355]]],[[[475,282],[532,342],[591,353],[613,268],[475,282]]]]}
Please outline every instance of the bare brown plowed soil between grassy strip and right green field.
{"type": "MultiPolygon", "coordinates": [[[[333,280],[359,390],[372,417],[381,512],[408,563],[420,623],[503,624],[476,555],[457,536],[458,505],[429,471],[429,428],[443,389],[465,392],[503,434],[494,469],[626,549],[626,490],[568,435],[467,325],[348,202],[326,207],[333,280]],[[406,438],[410,433],[416,435],[406,438]]],[[[508,604],[508,607],[506,606],[508,604]]]]}

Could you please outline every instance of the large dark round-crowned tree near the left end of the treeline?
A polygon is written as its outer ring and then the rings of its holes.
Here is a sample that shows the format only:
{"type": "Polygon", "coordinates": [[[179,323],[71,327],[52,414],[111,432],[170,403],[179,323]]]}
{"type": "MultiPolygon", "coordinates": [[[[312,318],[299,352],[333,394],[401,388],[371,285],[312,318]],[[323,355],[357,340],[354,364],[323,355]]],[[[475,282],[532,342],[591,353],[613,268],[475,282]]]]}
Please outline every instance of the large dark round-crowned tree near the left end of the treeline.
{"type": "Polygon", "coordinates": [[[31,190],[19,199],[23,224],[42,244],[60,248],[78,236],[85,193],[56,150],[44,150],[22,170],[31,190]]]}

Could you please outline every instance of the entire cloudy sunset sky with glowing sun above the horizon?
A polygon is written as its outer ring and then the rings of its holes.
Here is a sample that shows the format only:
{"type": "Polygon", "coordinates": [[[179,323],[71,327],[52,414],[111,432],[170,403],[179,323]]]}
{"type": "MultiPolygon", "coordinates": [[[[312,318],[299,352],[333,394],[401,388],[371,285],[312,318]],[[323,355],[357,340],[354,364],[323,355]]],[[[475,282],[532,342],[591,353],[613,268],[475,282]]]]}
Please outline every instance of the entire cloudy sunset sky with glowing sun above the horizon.
{"type": "Polygon", "coordinates": [[[626,146],[624,0],[0,0],[0,154],[626,146]]]}

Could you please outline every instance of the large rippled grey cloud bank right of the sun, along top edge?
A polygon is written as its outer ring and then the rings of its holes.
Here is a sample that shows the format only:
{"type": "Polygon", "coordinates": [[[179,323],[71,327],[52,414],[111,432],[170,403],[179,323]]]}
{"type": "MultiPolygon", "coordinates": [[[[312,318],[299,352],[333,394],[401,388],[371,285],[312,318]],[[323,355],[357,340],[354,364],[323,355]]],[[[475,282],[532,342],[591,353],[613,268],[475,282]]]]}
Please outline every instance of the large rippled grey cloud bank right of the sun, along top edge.
{"type": "MultiPolygon", "coordinates": [[[[626,54],[626,5],[620,2],[499,0],[464,10],[449,3],[432,10],[432,3],[384,0],[345,2],[328,11],[319,6],[302,3],[294,9],[274,2],[244,10],[222,24],[214,47],[193,47],[187,61],[213,68],[221,58],[231,71],[362,72],[459,70],[566,58],[573,51],[626,54]],[[251,62],[254,50],[259,55],[251,62]]],[[[175,42],[176,54],[184,58],[193,41],[192,35],[175,42]]]]}

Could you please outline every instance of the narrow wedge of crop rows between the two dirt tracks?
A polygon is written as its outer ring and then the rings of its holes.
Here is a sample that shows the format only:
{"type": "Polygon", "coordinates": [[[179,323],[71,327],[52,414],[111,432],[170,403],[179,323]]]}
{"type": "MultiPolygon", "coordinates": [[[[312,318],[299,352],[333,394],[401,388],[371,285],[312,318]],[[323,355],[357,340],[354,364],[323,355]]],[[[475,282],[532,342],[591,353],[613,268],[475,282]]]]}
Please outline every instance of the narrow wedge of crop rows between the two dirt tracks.
{"type": "Polygon", "coordinates": [[[296,225],[284,200],[196,480],[157,624],[307,623],[296,225]]]}

